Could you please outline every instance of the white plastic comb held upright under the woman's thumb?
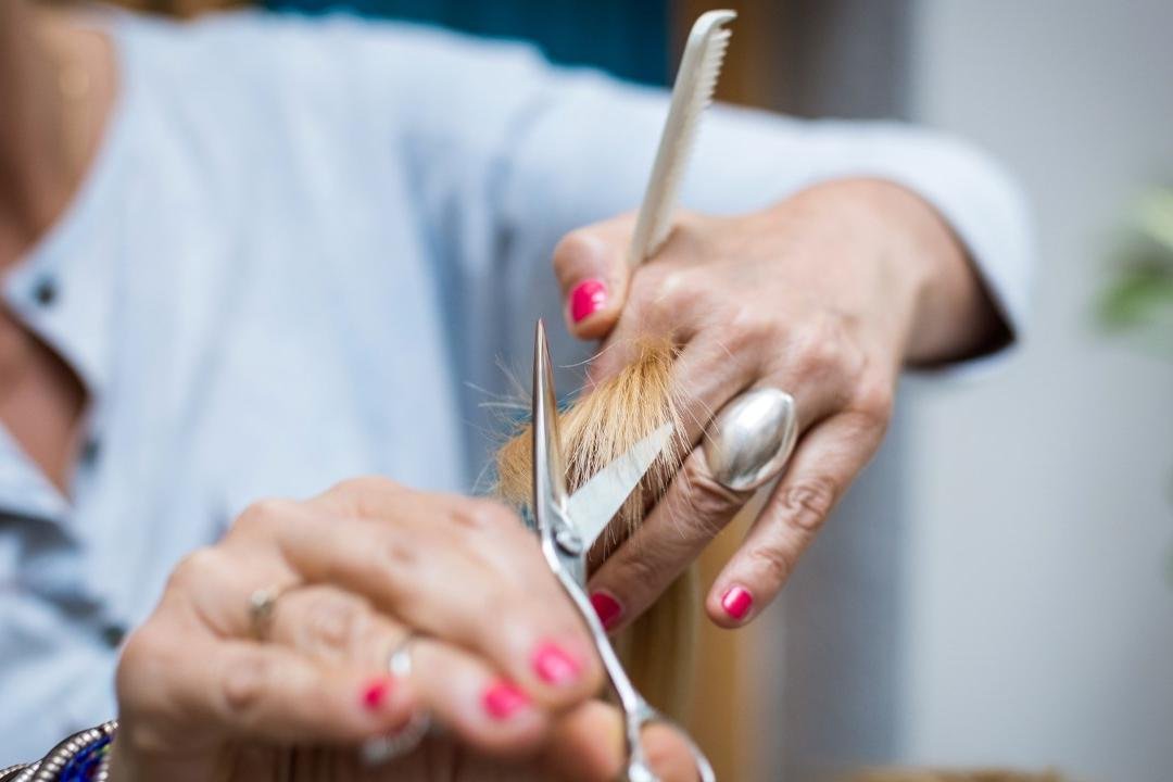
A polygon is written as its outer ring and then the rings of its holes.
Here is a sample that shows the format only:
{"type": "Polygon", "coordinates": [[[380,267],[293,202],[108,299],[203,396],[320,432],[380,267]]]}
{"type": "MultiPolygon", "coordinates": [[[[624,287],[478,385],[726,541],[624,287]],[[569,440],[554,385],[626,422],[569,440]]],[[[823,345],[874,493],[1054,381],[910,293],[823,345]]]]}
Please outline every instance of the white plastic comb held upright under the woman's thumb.
{"type": "Polygon", "coordinates": [[[717,76],[725,61],[730,42],[730,30],[725,25],[735,18],[737,12],[733,11],[708,11],[700,15],[689,33],[672,87],[672,103],[656,151],[656,163],[628,251],[628,265],[632,268],[655,256],[672,230],[677,193],[697,138],[700,115],[713,101],[717,76]]]}

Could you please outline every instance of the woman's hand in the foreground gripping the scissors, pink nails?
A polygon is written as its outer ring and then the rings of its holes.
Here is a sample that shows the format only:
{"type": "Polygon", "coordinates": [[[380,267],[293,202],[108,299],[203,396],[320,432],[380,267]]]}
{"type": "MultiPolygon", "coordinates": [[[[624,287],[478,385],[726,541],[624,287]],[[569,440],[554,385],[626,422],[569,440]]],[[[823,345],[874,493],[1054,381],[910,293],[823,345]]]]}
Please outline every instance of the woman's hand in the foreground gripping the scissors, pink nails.
{"type": "MultiPolygon", "coordinates": [[[[299,780],[428,780],[443,757],[462,759],[461,780],[501,763],[510,778],[610,778],[623,741],[617,714],[590,700],[602,682],[513,512],[364,478],[257,504],[176,569],[118,666],[113,778],[277,778],[293,763],[299,780]],[[258,627],[250,597],[265,589],[280,597],[258,627]],[[388,655],[409,632],[411,674],[393,680],[388,655]],[[418,709],[447,737],[362,769],[354,747],[418,709]]],[[[676,736],[647,741],[687,769],[676,736]]]]}

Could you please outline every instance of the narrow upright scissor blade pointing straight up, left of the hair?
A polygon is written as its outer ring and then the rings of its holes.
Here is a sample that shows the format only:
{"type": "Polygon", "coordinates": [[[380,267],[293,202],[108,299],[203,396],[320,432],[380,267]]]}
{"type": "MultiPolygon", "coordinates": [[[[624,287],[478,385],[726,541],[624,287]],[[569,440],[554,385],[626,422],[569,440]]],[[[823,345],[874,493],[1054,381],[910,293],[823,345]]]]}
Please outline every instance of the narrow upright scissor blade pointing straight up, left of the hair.
{"type": "Polygon", "coordinates": [[[554,394],[554,366],[545,325],[534,333],[534,521],[537,529],[552,529],[555,509],[565,508],[567,474],[558,438],[558,407],[554,394]]]}

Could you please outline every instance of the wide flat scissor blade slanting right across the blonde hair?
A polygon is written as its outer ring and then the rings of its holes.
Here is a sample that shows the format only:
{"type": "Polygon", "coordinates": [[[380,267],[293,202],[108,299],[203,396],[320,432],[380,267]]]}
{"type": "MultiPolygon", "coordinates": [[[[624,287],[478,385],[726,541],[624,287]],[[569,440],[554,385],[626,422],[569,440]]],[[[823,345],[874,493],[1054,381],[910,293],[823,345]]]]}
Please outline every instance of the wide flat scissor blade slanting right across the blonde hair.
{"type": "Polygon", "coordinates": [[[664,450],[672,436],[672,424],[665,423],[618,457],[579,487],[567,505],[568,516],[578,529],[578,535],[589,551],[598,536],[606,529],[631,491],[643,480],[644,472],[664,450]]]}

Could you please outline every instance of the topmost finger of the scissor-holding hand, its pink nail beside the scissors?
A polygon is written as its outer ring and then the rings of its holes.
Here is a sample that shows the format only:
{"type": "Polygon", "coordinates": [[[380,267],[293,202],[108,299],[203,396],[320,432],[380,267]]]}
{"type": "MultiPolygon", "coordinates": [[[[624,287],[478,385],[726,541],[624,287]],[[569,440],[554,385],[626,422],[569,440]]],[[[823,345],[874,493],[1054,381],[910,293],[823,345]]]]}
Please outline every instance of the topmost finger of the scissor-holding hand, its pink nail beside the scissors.
{"type": "MultiPolygon", "coordinates": [[[[484,503],[488,506],[488,503],[484,503]]],[[[361,594],[382,613],[428,635],[484,657],[538,702],[563,708],[592,694],[602,665],[574,606],[548,569],[521,583],[484,564],[469,548],[468,531],[441,523],[433,509],[401,523],[318,519],[262,506],[238,524],[266,526],[289,566],[306,583],[334,584],[361,594]],[[282,514],[266,518],[266,514],[282,514]]],[[[516,532],[516,517],[491,505],[487,524],[501,535],[516,532]],[[508,531],[507,531],[508,530],[508,531]]],[[[257,537],[255,532],[249,537],[257,537]]],[[[528,536],[529,556],[541,552],[528,536]]],[[[248,573],[248,552],[230,567],[248,573]]],[[[240,578],[223,576],[221,603],[245,606],[240,578]]],[[[235,611],[243,613],[243,608],[235,611]]]]}

